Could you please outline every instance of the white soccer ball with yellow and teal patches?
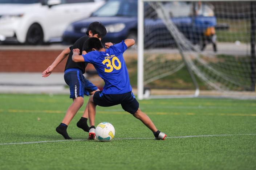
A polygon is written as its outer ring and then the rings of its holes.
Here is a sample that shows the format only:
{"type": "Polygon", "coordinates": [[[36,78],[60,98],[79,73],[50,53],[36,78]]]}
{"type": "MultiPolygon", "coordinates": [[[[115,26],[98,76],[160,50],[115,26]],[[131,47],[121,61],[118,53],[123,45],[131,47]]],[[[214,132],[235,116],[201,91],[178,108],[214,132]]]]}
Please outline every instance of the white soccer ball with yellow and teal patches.
{"type": "Polygon", "coordinates": [[[115,128],[111,123],[102,122],[96,127],[95,134],[99,141],[108,142],[114,138],[115,128]]]}

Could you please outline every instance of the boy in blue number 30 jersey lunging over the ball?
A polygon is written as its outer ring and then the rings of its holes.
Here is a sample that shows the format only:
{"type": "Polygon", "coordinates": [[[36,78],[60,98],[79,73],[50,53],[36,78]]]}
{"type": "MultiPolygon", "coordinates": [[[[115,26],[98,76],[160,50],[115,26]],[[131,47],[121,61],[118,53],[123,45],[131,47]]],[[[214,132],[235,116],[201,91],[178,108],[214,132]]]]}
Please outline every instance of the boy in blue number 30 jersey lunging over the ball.
{"type": "Polygon", "coordinates": [[[134,43],[133,39],[126,39],[115,45],[107,43],[106,46],[109,48],[104,49],[98,38],[88,38],[85,42],[88,49],[85,50],[92,52],[82,51],[82,55],[79,55],[79,49],[73,50],[72,60],[92,63],[105,82],[103,90],[95,92],[88,101],[90,121],[88,139],[95,139],[96,106],[109,107],[117,104],[121,104],[125,111],[141,120],[153,132],[156,139],[164,140],[166,137],[166,134],[160,132],[150,118],[139,109],[139,103],[132,93],[123,53],[134,43]]]}

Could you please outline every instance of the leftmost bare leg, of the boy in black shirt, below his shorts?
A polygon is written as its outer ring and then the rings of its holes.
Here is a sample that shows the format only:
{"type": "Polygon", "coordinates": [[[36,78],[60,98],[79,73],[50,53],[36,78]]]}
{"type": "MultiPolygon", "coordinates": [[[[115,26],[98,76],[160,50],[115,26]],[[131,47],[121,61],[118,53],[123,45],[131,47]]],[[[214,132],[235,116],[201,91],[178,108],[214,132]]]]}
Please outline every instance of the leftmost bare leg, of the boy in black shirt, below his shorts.
{"type": "Polygon", "coordinates": [[[77,111],[82,107],[83,104],[84,104],[84,98],[78,97],[73,99],[73,103],[68,108],[66,115],[61,123],[69,125],[70,121],[73,119],[73,117],[76,115],[77,111]]]}

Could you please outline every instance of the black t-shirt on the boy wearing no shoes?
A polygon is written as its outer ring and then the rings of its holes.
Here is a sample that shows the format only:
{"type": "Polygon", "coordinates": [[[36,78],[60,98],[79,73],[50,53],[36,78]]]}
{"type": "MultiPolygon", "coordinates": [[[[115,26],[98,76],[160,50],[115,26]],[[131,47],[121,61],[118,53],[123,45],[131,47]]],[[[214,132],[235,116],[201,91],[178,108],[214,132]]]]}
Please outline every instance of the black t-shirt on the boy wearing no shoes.
{"type": "Polygon", "coordinates": [[[69,57],[65,66],[65,70],[67,69],[80,69],[82,71],[82,73],[85,73],[85,67],[87,66],[88,63],[85,62],[74,62],[72,60],[72,55],[73,55],[73,49],[79,49],[80,50],[80,55],[82,55],[82,50],[83,50],[83,45],[84,42],[88,39],[88,36],[83,36],[81,38],[79,38],[74,44],[73,46],[70,46],[70,53],[69,53],[69,57]]]}

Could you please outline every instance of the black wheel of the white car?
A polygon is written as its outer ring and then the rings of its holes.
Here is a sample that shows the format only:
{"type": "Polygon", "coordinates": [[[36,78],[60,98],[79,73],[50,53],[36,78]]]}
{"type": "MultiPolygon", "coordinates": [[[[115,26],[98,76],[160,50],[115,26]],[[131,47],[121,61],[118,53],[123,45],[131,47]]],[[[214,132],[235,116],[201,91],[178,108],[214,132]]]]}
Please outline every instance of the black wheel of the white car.
{"type": "Polygon", "coordinates": [[[44,39],[44,33],[39,24],[32,24],[27,33],[26,43],[30,45],[42,44],[44,39]]]}

